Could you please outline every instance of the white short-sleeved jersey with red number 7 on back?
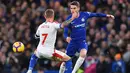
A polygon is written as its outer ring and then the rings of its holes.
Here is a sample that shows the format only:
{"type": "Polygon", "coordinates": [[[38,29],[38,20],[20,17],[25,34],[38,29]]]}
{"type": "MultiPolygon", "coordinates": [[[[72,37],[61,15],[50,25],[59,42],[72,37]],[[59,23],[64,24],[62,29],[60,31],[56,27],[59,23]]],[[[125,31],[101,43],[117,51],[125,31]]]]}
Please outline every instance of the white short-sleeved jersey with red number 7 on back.
{"type": "Polygon", "coordinates": [[[36,35],[40,37],[40,41],[37,49],[48,47],[53,48],[55,45],[57,29],[60,28],[60,24],[57,22],[44,22],[42,23],[36,32],[36,35]]]}

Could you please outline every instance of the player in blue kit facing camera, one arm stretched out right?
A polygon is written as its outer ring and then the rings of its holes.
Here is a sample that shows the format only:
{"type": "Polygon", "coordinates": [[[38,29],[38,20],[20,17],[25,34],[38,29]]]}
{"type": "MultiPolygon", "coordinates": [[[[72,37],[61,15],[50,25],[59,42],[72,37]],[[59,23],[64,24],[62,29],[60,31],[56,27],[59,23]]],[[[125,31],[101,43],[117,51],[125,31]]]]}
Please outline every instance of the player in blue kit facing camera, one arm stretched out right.
{"type": "Polygon", "coordinates": [[[114,19],[113,15],[103,13],[91,13],[91,12],[80,12],[80,4],[78,1],[70,3],[71,14],[67,20],[71,18],[73,13],[77,13],[77,18],[74,19],[67,27],[64,28],[64,38],[69,43],[66,49],[66,53],[69,56],[74,56],[76,52],[80,53],[80,56],[72,71],[72,61],[63,62],[60,67],[60,73],[76,73],[79,67],[85,60],[88,44],[86,43],[86,22],[91,17],[108,17],[114,19]],[[70,30],[70,37],[68,36],[68,30],[70,30]],[[65,64],[65,65],[64,65],[65,64]],[[65,67],[64,67],[65,66],[65,67]]]}

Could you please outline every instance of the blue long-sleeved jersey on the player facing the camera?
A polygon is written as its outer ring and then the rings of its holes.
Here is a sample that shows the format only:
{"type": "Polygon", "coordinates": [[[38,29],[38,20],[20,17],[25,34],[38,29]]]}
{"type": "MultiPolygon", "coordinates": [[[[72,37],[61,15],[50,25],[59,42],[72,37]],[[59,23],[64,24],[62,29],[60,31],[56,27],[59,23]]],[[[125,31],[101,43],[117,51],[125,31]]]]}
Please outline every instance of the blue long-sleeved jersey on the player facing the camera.
{"type": "MultiPolygon", "coordinates": [[[[71,18],[69,15],[67,20],[71,18]]],[[[67,27],[64,28],[64,38],[68,37],[68,30],[71,31],[72,40],[86,40],[87,19],[91,17],[106,17],[103,13],[80,12],[79,17],[74,19],[67,27]]]]}

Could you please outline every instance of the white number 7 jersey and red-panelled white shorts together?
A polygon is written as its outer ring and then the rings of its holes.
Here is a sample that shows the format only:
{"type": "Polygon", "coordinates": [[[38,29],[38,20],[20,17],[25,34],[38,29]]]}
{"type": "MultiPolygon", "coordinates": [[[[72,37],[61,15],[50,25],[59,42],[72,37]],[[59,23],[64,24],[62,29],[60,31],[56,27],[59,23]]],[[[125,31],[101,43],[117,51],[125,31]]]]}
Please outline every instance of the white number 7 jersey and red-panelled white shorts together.
{"type": "Polygon", "coordinates": [[[38,27],[36,36],[40,37],[40,41],[35,50],[38,58],[61,60],[64,57],[65,53],[54,49],[57,29],[59,28],[60,24],[56,22],[44,22],[38,27]]]}

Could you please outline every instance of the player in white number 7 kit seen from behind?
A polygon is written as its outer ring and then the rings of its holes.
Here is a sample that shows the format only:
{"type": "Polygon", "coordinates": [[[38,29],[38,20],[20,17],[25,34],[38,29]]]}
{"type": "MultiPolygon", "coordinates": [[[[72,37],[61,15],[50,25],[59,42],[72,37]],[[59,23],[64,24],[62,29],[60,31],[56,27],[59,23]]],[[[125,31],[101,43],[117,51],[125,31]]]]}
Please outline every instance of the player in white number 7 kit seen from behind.
{"type": "Polygon", "coordinates": [[[71,21],[76,18],[76,13],[72,15],[72,17],[64,21],[62,24],[54,22],[54,10],[47,9],[44,13],[44,17],[46,22],[42,23],[36,32],[36,37],[40,37],[39,44],[37,46],[36,51],[31,56],[29,68],[27,73],[32,73],[32,70],[38,60],[38,58],[48,58],[52,60],[58,61],[68,61],[70,57],[65,53],[55,50],[54,44],[56,40],[57,29],[64,28],[67,26],[71,21]]]}

